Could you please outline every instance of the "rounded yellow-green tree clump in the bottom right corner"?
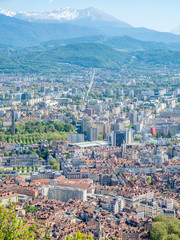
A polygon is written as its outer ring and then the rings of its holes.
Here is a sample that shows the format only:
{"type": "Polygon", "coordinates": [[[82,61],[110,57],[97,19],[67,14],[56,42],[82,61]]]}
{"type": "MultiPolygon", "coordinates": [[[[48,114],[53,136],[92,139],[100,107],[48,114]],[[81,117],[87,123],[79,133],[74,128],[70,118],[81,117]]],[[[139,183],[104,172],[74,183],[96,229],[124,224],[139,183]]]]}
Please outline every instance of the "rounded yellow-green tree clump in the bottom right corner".
{"type": "Polygon", "coordinates": [[[180,220],[165,215],[154,218],[151,229],[151,240],[178,240],[180,239],[180,220]]]}

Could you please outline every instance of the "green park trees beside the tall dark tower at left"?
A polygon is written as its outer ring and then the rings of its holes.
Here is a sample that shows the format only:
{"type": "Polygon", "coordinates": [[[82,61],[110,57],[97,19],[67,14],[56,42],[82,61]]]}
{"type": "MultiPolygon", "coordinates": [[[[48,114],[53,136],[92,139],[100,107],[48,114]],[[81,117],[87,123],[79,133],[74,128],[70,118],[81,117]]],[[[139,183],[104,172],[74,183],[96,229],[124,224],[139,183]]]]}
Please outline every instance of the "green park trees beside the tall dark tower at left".
{"type": "Polygon", "coordinates": [[[22,146],[37,144],[42,138],[52,140],[66,140],[67,135],[74,131],[74,125],[65,122],[48,122],[32,119],[20,121],[16,124],[16,135],[11,135],[11,127],[0,131],[0,141],[6,143],[20,143],[22,146]]]}

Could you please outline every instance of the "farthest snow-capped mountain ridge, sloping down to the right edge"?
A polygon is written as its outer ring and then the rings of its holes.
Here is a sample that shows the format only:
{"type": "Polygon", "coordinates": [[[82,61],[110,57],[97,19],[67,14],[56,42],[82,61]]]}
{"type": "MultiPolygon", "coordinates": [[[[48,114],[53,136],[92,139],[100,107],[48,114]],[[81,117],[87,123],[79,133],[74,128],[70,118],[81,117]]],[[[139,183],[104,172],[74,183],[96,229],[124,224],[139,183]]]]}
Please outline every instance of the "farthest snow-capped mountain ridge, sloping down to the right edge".
{"type": "Polygon", "coordinates": [[[9,13],[27,21],[64,22],[77,26],[93,27],[109,36],[129,36],[142,41],[180,42],[180,36],[173,33],[158,32],[146,28],[134,28],[98,9],[59,8],[52,12],[9,13]]]}

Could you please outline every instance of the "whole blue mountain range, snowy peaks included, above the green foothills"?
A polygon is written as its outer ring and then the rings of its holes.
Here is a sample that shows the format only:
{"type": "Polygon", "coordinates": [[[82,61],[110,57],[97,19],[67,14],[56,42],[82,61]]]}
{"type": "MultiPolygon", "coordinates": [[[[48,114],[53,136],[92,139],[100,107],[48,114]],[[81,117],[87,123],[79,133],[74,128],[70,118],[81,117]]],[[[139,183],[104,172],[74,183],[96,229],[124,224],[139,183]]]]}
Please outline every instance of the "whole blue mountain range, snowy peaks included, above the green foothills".
{"type": "Polygon", "coordinates": [[[180,42],[180,35],[168,32],[158,32],[146,28],[134,28],[95,8],[80,10],[60,8],[52,12],[42,13],[16,13],[0,9],[0,13],[11,16],[12,20],[11,25],[5,25],[5,28],[0,29],[5,32],[4,36],[1,31],[0,44],[10,43],[10,39],[12,38],[13,44],[14,42],[17,44],[18,41],[21,41],[21,44],[24,42],[24,46],[32,46],[42,41],[99,34],[113,37],[129,36],[141,41],[164,43],[180,42]],[[14,29],[15,26],[13,21],[16,22],[17,19],[19,21],[20,19],[24,20],[24,24],[22,24],[23,26],[21,27],[19,26],[19,29],[14,29]],[[49,25],[50,23],[51,25],[49,25]],[[21,32],[22,34],[20,34],[21,32]],[[20,35],[22,35],[23,39],[19,37],[20,35]],[[25,35],[27,35],[27,38],[25,38],[25,35]],[[14,41],[15,39],[17,39],[17,41],[14,41]]]}

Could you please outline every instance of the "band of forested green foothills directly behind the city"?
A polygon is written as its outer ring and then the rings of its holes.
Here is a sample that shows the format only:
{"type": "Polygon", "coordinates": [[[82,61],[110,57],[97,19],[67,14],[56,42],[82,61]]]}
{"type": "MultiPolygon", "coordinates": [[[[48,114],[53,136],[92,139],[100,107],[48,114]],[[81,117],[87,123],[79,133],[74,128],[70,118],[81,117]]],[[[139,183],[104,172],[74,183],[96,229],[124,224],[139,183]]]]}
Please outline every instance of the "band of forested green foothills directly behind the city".
{"type": "Polygon", "coordinates": [[[63,66],[86,68],[180,67],[180,51],[148,50],[122,52],[98,43],[70,44],[61,47],[25,48],[2,53],[0,72],[58,73],[63,66]]]}

